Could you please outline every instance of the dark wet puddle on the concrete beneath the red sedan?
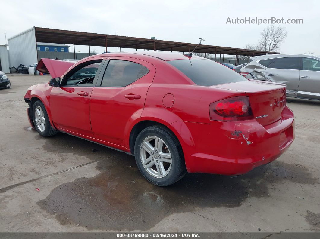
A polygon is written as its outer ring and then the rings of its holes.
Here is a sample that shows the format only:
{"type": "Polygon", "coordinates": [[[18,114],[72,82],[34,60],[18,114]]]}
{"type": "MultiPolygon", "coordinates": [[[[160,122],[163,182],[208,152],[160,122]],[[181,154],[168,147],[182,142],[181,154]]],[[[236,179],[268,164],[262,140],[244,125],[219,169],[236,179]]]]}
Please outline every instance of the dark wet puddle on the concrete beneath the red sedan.
{"type": "MultiPolygon", "coordinates": [[[[62,225],[101,230],[147,230],[172,213],[206,207],[238,207],[250,197],[268,197],[268,185],[289,180],[315,184],[306,168],[275,161],[239,176],[186,174],[168,187],[148,183],[133,156],[59,133],[44,149],[99,160],[92,178],[61,184],[38,205],[62,225]]],[[[62,155],[61,155],[62,156],[62,155]]]]}

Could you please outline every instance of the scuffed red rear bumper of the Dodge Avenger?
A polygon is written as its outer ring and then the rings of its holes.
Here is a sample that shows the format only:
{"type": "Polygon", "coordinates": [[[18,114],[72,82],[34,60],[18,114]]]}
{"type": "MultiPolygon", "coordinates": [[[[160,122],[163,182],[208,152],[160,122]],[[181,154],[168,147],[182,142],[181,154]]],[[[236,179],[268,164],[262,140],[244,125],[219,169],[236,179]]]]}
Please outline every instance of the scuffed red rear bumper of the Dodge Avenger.
{"type": "Polygon", "coordinates": [[[189,173],[245,174],[277,159],[295,137],[294,117],[288,107],[280,120],[266,126],[256,120],[185,123],[194,144],[182,144],[189,173]]]}

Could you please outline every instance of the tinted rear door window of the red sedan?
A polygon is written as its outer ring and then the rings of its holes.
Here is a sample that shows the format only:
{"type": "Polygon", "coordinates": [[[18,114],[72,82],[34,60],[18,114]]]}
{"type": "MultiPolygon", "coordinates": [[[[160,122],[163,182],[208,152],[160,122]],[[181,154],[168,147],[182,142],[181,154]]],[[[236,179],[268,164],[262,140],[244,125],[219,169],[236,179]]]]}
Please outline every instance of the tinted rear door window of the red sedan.
{"type": "Polygon", "coordinates": [[[147,67],[131,61],[110,60],[101,86],[123,87],[148,74],[147,67]]]}

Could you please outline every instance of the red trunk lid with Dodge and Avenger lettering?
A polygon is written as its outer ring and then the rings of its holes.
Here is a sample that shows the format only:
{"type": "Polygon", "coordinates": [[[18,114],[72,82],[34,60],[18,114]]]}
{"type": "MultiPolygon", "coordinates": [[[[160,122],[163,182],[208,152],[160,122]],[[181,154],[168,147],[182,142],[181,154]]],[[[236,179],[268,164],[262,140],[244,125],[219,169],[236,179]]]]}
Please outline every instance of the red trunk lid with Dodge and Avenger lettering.
{"type": "Polygon", "coordinates": [[[286,105],[286,86],[280,83],[250,80],[213,87],[245,92],[249,97],[252,114],[261,125],[279,120],[286,105]]]}

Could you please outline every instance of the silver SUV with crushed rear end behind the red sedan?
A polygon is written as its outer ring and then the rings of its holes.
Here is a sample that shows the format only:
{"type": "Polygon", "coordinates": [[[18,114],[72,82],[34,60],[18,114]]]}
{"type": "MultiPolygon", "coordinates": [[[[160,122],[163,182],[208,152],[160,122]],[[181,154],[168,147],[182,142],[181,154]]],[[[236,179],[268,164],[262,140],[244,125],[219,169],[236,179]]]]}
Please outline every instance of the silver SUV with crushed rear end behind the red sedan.
{"type": "Polygon", "coordinates": [[[241,68],[247,78],[287,85],[287,96],[320,100],[320,57],[313,55],[254,56],[241,68]]]}

